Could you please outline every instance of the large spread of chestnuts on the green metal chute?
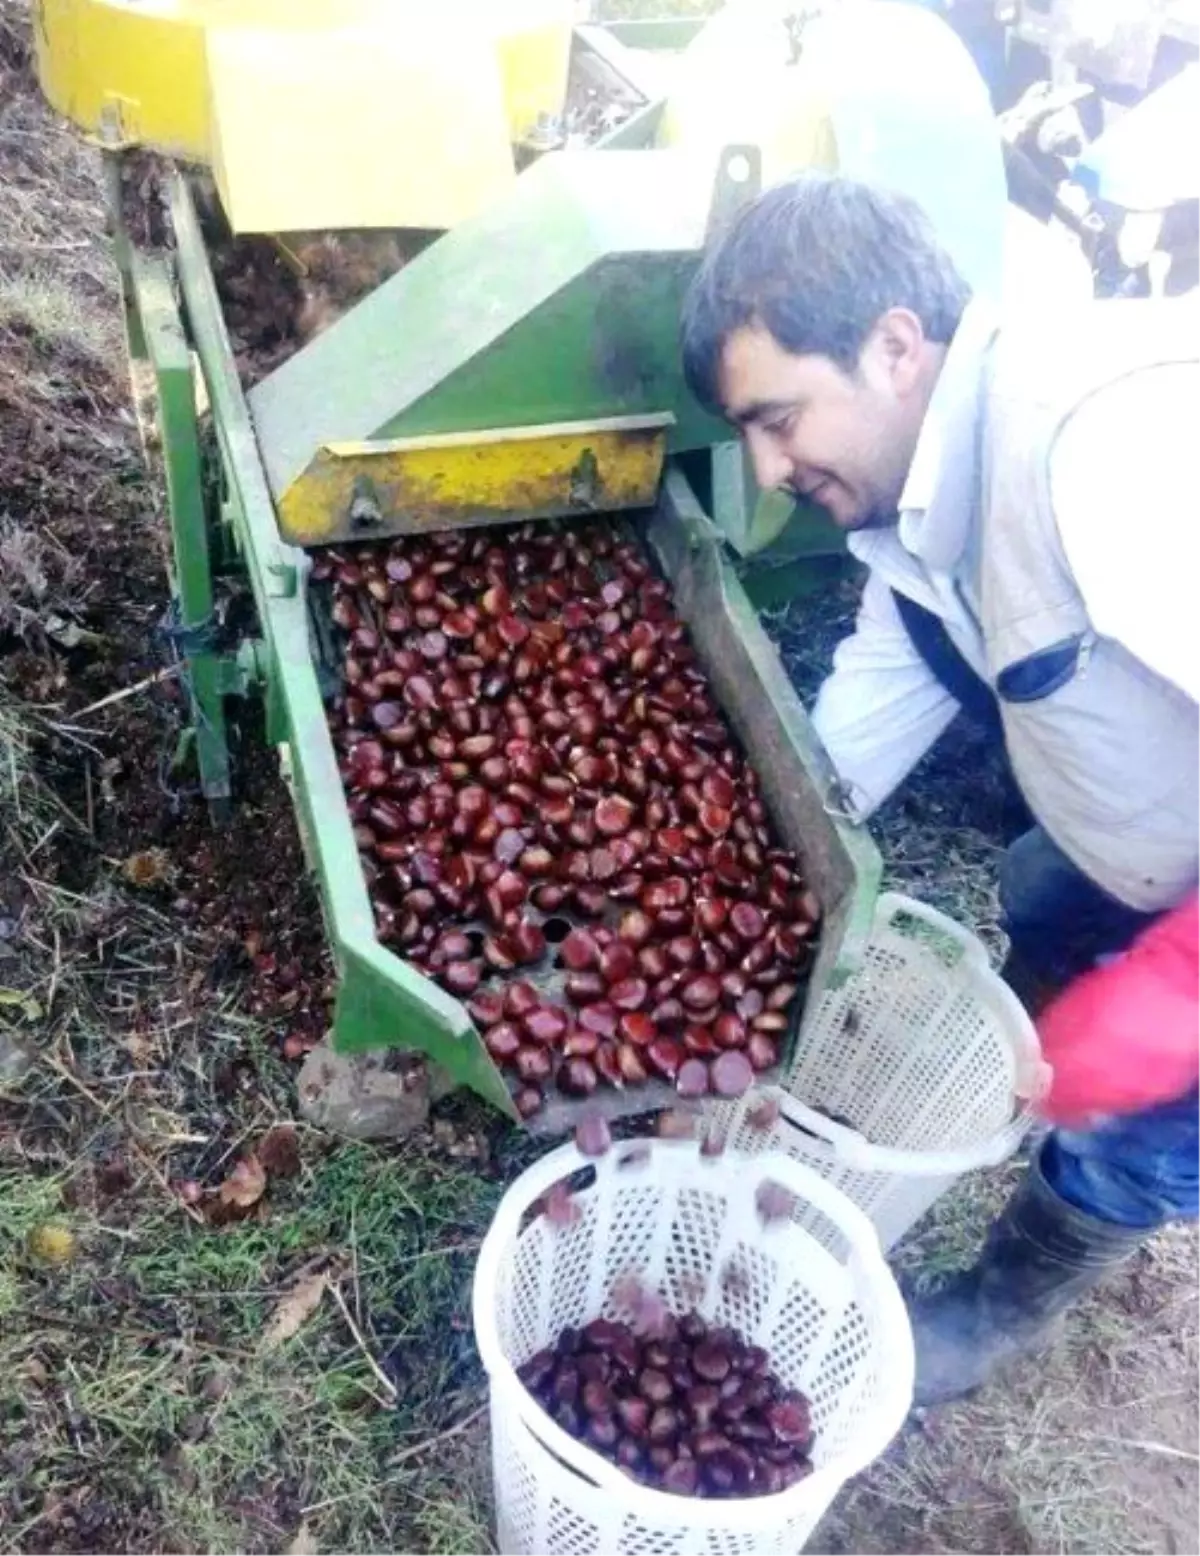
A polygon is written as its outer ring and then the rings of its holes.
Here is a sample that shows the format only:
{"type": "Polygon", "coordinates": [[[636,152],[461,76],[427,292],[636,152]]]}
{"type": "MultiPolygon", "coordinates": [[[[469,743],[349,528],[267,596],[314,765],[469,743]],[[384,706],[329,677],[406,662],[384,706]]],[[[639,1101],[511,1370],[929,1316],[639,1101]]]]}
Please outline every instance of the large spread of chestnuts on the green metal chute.
{"type": "Polygon", "coordinates": [[[328,549],[330,717],[380,940],[549,1088],[739,1095],[820,909],[671,608],[610,521],[328,549]]]}

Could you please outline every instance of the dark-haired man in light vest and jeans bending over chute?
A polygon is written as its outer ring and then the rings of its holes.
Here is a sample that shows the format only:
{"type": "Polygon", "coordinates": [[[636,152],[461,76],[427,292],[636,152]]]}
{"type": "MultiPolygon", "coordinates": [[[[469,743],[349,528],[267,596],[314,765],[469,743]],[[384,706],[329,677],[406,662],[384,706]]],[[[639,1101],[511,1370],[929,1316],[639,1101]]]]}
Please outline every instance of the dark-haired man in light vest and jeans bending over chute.
{"type": "MultiPolygon", "coordinates": [[[[998,324],[909,201],[806,174],[705,257],[683,359],[760,485],[823,506],[868,568],[814,710],[859,815],[959,708],[1002,733],[1038,822],[1001,876],[1013,983],[1061,990],[1184,902],[1200,307],[998,324]]],[[[1150,1095],[1051,1133],[977,1265],[914,1304],[920,1402],[974,1388],[1150,1231],[1200,1214],[1200,1094],[1150,1095]]]]}

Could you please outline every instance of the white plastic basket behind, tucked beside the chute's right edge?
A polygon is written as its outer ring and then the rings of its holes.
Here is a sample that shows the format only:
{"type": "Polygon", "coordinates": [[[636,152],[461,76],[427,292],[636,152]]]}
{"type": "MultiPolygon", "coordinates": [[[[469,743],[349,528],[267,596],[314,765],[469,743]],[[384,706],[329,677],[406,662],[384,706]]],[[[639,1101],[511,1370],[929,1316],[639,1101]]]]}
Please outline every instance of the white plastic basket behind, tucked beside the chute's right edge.
{"type": "Polygon", "coordinates": [[[783,1088],[711,1113],[732,1150],[819,1172],[887,1249],[956,1178],[1012,1156],[1044,1074],[1033,1022],[979,940],[889,892],[861,971],[806,1016],[783,1088]],[[780,1103],[767,1130],[747,1117],[764,1097],[780,1103]]]}

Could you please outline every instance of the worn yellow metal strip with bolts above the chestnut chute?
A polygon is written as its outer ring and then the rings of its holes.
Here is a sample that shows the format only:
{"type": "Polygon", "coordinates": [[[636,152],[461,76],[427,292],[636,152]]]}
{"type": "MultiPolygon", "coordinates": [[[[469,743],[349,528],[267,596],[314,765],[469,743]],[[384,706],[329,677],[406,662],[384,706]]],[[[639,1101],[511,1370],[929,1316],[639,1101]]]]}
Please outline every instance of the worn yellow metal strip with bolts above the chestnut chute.
{"type": "Polygon", "coordinates": [[[364,535],[647,507],[669,415],[332,443],[283,493],[280,532],[313,546],[364,535]]]}

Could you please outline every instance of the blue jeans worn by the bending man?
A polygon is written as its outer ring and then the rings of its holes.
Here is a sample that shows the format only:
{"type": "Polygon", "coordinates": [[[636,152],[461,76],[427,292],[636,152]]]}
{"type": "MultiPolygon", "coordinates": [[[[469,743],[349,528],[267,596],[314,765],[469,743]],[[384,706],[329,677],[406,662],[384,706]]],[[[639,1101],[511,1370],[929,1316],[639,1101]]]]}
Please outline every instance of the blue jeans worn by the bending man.
{"type": "MultiPolygon", "coordinates": [[[[1015,955],[1055,988],[1124,951],[1156,916],[1108,896],[1040,826],[1007,850],[999,895],[1015,955]]],[[[1150,1231],[1200,1217],[1200,1092],[1093,1130],[1055,1130],[1040,1165],[1063,1200],[1102,1221],[1150,1231]]]]}

